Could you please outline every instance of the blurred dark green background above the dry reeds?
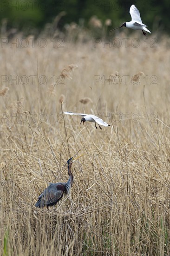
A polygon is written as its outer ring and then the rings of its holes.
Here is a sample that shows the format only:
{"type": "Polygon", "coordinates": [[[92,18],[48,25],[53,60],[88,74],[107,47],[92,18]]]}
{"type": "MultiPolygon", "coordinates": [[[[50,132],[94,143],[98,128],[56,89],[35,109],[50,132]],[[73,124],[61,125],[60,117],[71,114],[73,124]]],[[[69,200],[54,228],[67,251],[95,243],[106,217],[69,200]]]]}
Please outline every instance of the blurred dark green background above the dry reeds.
{"type": "Polygon", "coordinates": [[[112,28],[131,21],[129,9],[132,4],[139,9],[150,31],[169,33],[170,0],[1,0],[0,22],[7,30],[16,28],[25,34],[38,34],[59,13],[65,12],[57,23],[60,30],[71,22],[89,27],[93,15],[102,24],[111,19],[112,28]]]}

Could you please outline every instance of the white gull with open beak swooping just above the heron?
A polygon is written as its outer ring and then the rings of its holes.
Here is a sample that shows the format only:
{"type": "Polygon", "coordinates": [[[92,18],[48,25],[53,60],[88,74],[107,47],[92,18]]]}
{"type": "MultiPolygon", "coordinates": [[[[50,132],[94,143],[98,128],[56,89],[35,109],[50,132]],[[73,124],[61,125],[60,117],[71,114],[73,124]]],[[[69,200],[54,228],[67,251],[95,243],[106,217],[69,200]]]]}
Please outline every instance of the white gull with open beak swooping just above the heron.
{"type": "Polygon", "coordinates": [[[64,112],[64,114],[66,114],[66,115],[82,115],[84,117],[82,117],[80,124],[83,122],[83,124],[85,125],[85,121],[93,122],[93,123],[95,123],[96,129],[97,129],[96,123],[98,123],[98,126],[101,130],[102,130],[102,128],[100,127],[100,125],[103,125],[106,127],[110,126],[110,124],[107,124],[106,122],[104,122],[101,118],[99,118],[96,115],[77,114],[77,113],[72,113],[72,112],[64,112]]]}

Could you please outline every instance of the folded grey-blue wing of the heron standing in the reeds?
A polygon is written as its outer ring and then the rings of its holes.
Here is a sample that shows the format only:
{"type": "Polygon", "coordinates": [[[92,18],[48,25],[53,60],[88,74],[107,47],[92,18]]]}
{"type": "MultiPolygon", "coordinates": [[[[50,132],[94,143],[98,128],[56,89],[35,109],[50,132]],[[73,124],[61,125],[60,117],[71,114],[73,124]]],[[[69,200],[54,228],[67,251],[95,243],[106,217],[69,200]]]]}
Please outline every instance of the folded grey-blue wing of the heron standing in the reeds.
{"type": "Polygon", "coordinates": [[[65,191],[65,183],[52,183],[48,188],[46,188],[41,195],[39,195],[39,200],[36,203],[36,207],[44,207],[49,204],[55,204],[63,196],[65,191]]]}

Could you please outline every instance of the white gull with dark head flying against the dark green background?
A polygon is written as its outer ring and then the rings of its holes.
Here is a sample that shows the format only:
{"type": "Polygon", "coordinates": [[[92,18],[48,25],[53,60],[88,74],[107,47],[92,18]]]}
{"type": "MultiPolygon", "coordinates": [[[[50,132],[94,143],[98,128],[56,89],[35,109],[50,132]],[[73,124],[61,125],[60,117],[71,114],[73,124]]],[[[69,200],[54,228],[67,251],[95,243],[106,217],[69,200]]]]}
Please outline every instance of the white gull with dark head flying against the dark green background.
{"type": "MultiPolygon", "coordinates": [[[[146,35],[144,31],[147,31],[151,34],[151,32],[146,28],[147,26],[142,23],[142,20],[140,18],[139,10],[135,5],[132,5],[130,8],[130,14],[131,14],[131,21],[130,22],[124,22],[122,26],[120,27],[128,27],[134,30],[142,30],[143,34],[146,35]]],[[[118,29],[120,27],[111,29],[110,31],[113,31],[115,29],[118,29]]]]}

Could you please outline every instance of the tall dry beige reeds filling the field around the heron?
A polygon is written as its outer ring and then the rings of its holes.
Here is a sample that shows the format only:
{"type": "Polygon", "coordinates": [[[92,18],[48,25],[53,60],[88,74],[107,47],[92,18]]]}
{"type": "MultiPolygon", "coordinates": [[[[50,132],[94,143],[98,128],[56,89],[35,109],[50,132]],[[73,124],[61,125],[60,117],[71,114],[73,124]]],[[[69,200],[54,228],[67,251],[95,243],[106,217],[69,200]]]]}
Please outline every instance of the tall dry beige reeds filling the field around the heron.
{"type": "Polygon", "coordinates": [[[1,255],[170,255],[169,49],[166,38],[157,48],[144,40],[1,48],[1,255]],[[111,127],[80,126],[62,110],[98,113],[111,127]],[[67,181],[79,149],[71,199],[35,208],[48,182],[67,181]]]}

